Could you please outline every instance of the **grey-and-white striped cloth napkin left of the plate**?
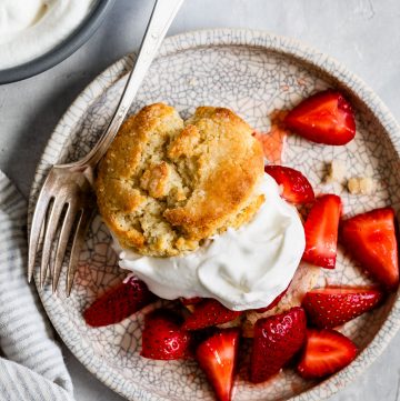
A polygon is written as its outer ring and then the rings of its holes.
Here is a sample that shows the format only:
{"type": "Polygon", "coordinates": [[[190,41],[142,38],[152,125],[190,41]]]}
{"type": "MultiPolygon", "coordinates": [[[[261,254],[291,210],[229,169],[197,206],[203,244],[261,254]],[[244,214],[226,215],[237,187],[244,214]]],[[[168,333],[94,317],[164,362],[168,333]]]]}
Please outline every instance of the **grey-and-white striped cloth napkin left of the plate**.
{"type": "Polygon", "coordinates": [[[0,399],[73,400],[72,381],[27,282],[27,204],[0,171],[0,399]]]}

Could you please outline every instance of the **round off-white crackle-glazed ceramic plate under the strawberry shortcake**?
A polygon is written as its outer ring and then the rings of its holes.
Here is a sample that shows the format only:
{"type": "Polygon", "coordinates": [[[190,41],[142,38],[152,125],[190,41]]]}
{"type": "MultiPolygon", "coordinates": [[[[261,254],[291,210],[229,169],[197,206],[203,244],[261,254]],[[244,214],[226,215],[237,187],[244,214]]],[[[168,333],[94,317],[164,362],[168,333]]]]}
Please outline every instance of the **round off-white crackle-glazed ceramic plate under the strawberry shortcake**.
{"type": "MultiPolygon", "coordinates": [[[[77,160],[93,146],[116,107],[131,59],[118,61],[99,76],[57,126],[39,163],[30,197],[30,212],[46,172],[53,163],[77,160]]],[[[200,104],[224,106],[237,111],[260,131],[268,131],[269,114],[288,109],[316,90],[339,88],[356,109],[358,132],[346,147],[317,146],[299,137],[288,139],[286,163],[303,171],[317,192],[324,166],[340,159],[349,176],[371,174],[378,182],[372,196],[342,197],[346,213],[391,204],[400,211],[399,127],[378,97],[357,77],[331,58],[291,39],[250,30],[208,30],[169,38],[144,80],[132,112],[156,101],[168,102],[183,117],[200,104]]],[[[330,283],[367,281],[359,267],[339,250],[337,269],[324,271],[330,283]]],[[[102,382],[129,400],[212,400],[213,393],[194,361],[161,362],[143,359],[142,312],[120,324],[91,329],[82,310],[97,294],[119,282],[110,235],[94,219],[72,295],[51,295],[50,285],[39,293],[59,334],[76,357],[102,382]]],[[[62,278],[64,279],[64,278],[62,278]]],[[[360,348],[349,367],[322,382],[303,381],[290,369],[267,383],[253,385],[238,378],[234,400],[321,400],[366,368],[381,353],[400,324],[396,294],[372,313],[344,325],[343,331],[360,348]]]]}

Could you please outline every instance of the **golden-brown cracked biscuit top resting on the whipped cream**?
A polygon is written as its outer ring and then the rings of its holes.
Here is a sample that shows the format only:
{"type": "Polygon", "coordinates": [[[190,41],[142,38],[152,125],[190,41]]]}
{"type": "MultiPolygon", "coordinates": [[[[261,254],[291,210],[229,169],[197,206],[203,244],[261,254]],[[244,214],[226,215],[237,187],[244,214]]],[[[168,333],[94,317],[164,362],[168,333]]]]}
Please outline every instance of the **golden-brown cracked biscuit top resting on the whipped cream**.
{"type": "Polygon", "coordinates": [[[171,257],[251,220],[263,202],[252,131],[223,108],[200,107],[186,123],[163,103],[130,117],[97,178],[100,213],[121,245],[171,257]]]}

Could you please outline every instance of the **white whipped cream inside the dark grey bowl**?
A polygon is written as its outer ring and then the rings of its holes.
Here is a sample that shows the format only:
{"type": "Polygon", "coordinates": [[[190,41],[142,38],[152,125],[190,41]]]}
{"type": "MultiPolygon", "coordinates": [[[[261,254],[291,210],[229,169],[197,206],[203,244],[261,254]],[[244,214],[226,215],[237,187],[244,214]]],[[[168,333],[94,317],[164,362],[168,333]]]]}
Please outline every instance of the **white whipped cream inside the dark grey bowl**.
{"type": "Polygon", "coordinates": [[[0,0],[0,70],[44,54],[88,14],[93,0],[0,0]]]}

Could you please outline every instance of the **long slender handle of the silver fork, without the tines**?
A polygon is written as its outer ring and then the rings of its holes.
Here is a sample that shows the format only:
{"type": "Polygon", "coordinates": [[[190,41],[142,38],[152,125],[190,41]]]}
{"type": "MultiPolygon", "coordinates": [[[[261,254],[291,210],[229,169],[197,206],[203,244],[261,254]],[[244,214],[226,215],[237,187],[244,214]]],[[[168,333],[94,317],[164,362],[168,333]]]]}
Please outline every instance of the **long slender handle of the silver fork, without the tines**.
{"type": "Polygon", "coordinates": [[[156,0],[149,24],[146,29],[143,40],[140,46],[139,54],[131,72],[129,73],[126,87],[114,114],[109,126],[107,127],[107,130],[103,132],[94,148],[83,159],[74,164],[77,169],[84,170],[88,167],[94,169],[101,158],[104,156],[119,128],[121,127],[129,108],[146,77],[146,73],[183,1],[184,0],[156,0]]]}

